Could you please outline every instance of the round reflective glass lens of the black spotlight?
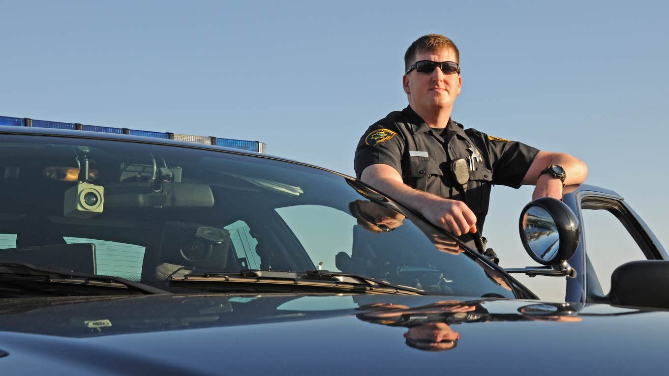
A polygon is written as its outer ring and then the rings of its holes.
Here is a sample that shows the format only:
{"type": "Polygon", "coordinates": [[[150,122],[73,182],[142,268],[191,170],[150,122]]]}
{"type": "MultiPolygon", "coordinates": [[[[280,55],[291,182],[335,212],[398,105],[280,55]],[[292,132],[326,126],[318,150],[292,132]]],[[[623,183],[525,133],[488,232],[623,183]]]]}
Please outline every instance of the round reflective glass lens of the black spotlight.
{"type": "Polygon", "coordinates": [[[551,261],[560,249],[560,236],[551,214],[543,207],[533,206],[522,217],[525,243],[530,250],[546,262],[551,261]]]}

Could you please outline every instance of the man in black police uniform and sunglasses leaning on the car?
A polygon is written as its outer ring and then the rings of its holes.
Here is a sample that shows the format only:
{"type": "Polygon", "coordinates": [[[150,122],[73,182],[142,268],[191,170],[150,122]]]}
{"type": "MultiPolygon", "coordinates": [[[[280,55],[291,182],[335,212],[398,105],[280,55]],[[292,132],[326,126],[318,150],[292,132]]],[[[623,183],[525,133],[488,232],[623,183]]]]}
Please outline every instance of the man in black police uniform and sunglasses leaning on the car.
{"type": "Polygon", "coordinates": [[[587,166],[571,155],[488,136],[451,119],[462,77],[458,48],[444,35],[419,37],[404,62],[409,106],[370,126],[355,151],[355,173],[365,183],[462,236],[482,230],[494,184],[536,185],[533,199],[561,199],[563,185],[585,181],[587,166]]]}

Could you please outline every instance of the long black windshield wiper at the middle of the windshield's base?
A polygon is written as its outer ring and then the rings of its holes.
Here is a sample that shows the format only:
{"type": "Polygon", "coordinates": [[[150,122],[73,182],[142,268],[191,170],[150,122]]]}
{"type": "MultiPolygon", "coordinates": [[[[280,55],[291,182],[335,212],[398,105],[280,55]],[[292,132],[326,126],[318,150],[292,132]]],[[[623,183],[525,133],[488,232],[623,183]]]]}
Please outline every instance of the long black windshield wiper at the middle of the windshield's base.
{"type": "Polygon", "coordinates": [[[263,284],[272,287],[306,288],[316,290],[338,290],[346,292],[365,292],[368,294],[407,294],[427,295],[427,291],[409,286],[393,284],[385,280],[358,276],[356,274],[312,270],[308,272],[280,272],[273,270],[242,270],[240,272],[206,272],[172,276],[172,286],[193,284],[234,284],[243,288],[262,288],[263,284]],[[254,287],[255,286],[255,287],[254,287]]]}

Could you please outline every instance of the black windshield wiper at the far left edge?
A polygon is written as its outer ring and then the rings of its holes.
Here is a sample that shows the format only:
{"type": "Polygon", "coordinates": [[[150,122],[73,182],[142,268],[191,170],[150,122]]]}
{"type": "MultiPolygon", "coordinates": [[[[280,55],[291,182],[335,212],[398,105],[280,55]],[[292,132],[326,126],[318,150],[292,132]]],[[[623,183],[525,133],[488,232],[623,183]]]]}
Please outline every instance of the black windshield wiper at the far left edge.
{"type": "Polygon", "coordinates": [[[43,268],[19,262],[0,263],[0,282],[47,282],[74,286],[98,286],[136,290],[144,294],[171,294],[165,290],[116,276],[78,273],[64,268],[43,268]]]}

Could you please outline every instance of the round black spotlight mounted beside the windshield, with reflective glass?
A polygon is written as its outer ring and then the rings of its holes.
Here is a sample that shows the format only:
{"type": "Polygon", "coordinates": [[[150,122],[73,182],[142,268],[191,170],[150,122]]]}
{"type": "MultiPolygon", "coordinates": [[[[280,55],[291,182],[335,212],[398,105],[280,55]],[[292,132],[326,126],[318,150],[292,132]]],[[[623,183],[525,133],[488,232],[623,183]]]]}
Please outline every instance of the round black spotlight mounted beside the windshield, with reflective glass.
{"type": "Polygon", "coordinates": [[[551,197],[528,203],[520,212],[520,240],[533,260],[558,265],[573,256],[579,245],[579,220],[567,204],[551,197]]]}

